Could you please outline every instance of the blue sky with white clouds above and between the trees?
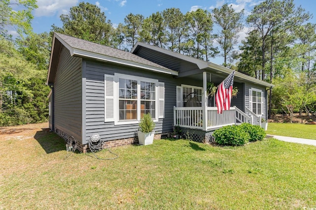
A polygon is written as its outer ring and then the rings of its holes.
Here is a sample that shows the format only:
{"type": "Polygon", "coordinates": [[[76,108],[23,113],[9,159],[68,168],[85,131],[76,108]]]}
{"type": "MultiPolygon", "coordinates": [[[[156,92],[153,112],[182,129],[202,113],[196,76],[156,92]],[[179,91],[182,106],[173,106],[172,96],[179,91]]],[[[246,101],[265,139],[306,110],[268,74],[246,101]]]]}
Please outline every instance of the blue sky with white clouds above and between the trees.
{"type": "MultiPolygon", "coordinates": [[[[39,8],[36,9],[34,20],[32,22],[33,30],[36,33],[51,30],[51,25],[55,24],[62,27],[59,16],[65,14],[73,6],[76,6],[82,0],[38,0],[39,8]]],[[[215,7],[221,7],[225,3],[233,5],[236,11],[245,10],[245,17],[251,12],[252,8],[263,0],[85,0],[92,4],[98,5],[107,16],[107,20],[111,20],[113,26],[124,22],[127,14],[142,14],[145,18],[157,11],[163,11],[166,8],[179,8],[182,13],[196,10],[197,8],[207,9],[212,12],[215,7]]],[[[301,5],[306,11],[313,14],[316,11],[315,0],[294,0],[296,6],[301,5]]],[[[316,23],[316,17],[312,19],[316,23]]],[[[216,27],[213,32],[217,33],[216,27]]],[[[247,32],[245,26],[240,33],[239,41],[241,41],[247,32]]],[[[221,60],[211,60],[221,64],[221,60]]]]}

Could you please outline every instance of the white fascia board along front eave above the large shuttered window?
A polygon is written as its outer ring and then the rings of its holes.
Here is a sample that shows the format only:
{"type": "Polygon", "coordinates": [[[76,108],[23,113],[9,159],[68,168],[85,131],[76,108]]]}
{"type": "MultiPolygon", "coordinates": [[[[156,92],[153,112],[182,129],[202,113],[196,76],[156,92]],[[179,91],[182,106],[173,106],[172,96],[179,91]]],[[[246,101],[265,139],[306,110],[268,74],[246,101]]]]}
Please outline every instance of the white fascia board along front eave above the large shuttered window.
{"type": "Polygon", "coordinates": [[[118,63],[118,64],[133,66],[133,67],[137,67],[137,68],[143,68],[143,69],[147,69],[147,70],[151,70],[151,71],[155,71],[155,72],[159,72],[159,73],[165,73],[165,74],[171,74],[171,75],[178,76],[177,71],[163,69],[163,68],[150,66],[150,65],[145,65],[145,64],[141,64],[141,63],[137,63],[137,62],[128,61],[128,60],[122,60],[122,59],[117,59],[117,58],[113,58],[113,57],[108,57],[108,56],[104,56],[104,55],[100,55],[100,54],[91,53],[88,51],[83,51],[80,49],[73,49],[72,56],[73,55],[76,55],[79,57],[92,58],[92,59],[96,59],[96,60],[109,61],[109,62],[114,62],[114,63],[118,63]]]}

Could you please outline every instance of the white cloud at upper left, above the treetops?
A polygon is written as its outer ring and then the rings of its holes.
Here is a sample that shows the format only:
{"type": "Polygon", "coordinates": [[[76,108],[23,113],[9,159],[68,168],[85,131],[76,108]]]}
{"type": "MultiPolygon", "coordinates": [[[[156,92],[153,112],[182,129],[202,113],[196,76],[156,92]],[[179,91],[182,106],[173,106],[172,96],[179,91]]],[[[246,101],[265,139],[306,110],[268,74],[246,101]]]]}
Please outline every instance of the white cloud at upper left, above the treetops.
{"type": "Polygon", "coordinates": [[[34,16],[54,16],[65,14],[77,5],[78,0],[38,0],[39,8],[34,10],[34,16]]]}

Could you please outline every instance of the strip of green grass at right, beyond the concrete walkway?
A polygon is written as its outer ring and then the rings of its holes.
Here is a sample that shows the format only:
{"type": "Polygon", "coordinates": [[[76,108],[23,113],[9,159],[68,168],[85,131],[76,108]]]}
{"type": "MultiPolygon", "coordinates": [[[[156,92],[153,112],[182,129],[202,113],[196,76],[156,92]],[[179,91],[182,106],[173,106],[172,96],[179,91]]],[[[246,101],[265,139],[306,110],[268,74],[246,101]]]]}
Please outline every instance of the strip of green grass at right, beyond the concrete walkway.
{"type": "Polygon", "coordinates": [[[266,133],[316,140],[316,125],[269,122],[266,133]]]}

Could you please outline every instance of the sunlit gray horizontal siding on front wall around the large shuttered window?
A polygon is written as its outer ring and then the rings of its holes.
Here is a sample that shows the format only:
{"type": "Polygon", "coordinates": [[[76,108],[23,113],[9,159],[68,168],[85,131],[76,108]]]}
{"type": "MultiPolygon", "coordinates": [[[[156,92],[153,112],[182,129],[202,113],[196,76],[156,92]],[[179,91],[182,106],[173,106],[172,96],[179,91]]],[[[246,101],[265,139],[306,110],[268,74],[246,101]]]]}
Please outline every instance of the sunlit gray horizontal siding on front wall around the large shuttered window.
{"type": "MultiPolygon", "coordinates": [[[[114,75],[114,73],[133,75],[151,79],[157,79],[164,83],[164,118],[156,122],[156,134],[172,132],[173,107],[176,106],[176,86],[187,84],[188,80],[174,79],[172,75],[155,73],[138,68],[118,66],[110,63],[94,62],[85,60],[86,76],[86,144],[92,134],[98,133],[105,141],[135,137],[138,124],[114,125],[114,122],[104,121],[104,75],[114,75]]],[[[195,81],[191,84],[201,87],[195,81]]]]}

